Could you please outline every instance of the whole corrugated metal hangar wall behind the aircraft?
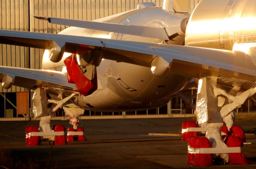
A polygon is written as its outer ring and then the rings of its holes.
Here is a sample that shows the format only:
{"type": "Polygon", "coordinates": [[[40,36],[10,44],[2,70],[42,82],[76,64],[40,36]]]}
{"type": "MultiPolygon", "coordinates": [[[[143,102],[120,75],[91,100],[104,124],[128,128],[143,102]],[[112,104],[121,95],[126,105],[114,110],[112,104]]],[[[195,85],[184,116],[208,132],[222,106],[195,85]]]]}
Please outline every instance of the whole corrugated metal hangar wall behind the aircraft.
{"type": "MultiPolygon", "coordinates": [[[[200,0],[190,0],[193,11],[200,0]]],[[[137,8],[140,2],[154,2],[162,6],[163,0],[1,0],[0,29],[42,33],[59,33],[66,26],[48,24],[34,19],[34,15],[94,20],[137,8]]],[[[189,0],[188,0],[189,2],[189,0]]],[[[40,69],[43,50],[13,45],[0,45],[0,65],[40,69]]],[[[15,87],[0,92],[29,91],[15,87]]]]}

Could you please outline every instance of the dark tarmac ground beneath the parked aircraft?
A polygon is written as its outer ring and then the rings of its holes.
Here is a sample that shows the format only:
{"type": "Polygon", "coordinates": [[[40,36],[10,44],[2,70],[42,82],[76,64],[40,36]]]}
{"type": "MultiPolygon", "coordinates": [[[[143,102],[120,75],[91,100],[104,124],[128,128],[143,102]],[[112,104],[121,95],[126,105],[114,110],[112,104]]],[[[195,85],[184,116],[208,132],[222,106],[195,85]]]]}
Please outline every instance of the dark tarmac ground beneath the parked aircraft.
{"type": "MultiPolygon", "coordinates": [[[[248,135],[242,148],[248,166],[194,167],[187,165],[187,141],[180,136],[149,135],[181,131],[187,118],[81,120],[87,141],[25,146],[25,128],[39,121],[0,122],[0,168],[256,168],[256,136],[248,135]],[[51,144],[51,145],[50,145],[51,144]]],[[[69,121],[51,125],[71,127],[69,121]]],[[[235,123],[256,127],[255,123],[235,123]]]]}

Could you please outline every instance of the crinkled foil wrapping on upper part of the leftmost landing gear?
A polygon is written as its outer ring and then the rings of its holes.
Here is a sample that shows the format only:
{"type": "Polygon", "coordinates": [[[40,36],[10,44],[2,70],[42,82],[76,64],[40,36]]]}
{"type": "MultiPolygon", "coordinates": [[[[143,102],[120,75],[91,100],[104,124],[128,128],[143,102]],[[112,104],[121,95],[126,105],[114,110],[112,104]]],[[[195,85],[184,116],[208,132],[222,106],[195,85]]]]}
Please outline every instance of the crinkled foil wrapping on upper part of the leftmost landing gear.
{"type": "Polygon", "coordinates": [[[47,96],[45,89],[37,88],[35,89],[33,95],[33,108],[32,111],[34,113],[34,117],[37,118],[42,114],[47,114],[47,96]]]}

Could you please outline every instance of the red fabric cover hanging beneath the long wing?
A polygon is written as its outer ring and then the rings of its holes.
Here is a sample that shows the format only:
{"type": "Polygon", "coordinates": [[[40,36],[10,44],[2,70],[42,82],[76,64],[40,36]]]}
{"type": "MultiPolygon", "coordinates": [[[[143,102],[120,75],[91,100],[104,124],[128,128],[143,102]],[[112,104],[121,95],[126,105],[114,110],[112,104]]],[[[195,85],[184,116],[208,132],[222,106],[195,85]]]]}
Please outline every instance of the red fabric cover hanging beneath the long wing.
{"type": "Polygon", "coordinates": [[[67,68],[68,82],[77,84],[77,89],[82,95],[88,96],[98,88],[97,73],[92,80],[89,80],[87,77],[85,77],[85,75],[83,75],[81,72],[79,65],[76,63],[73,54],[67,57],[64,60],[64,63],[67,68]]]}

